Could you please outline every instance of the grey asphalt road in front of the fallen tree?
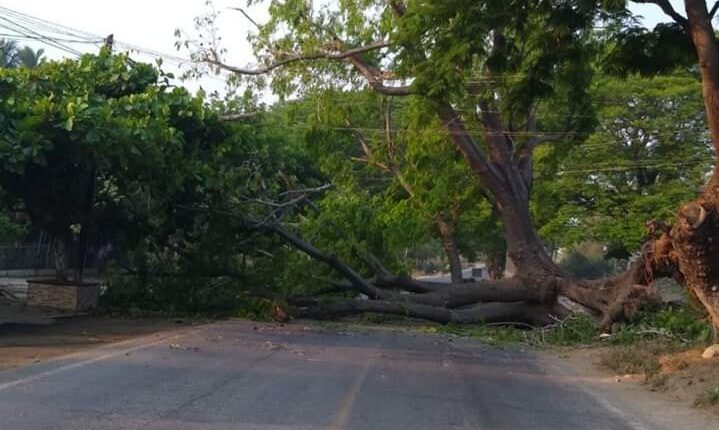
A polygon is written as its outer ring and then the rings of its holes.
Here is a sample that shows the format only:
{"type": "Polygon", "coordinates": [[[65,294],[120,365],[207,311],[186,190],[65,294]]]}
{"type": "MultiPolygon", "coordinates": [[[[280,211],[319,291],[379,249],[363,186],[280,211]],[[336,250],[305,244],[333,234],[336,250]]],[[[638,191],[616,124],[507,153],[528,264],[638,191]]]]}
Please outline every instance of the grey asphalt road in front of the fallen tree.
{"type": "Polygon", "coordinates": [[[0,372],[2,430],[655,429],[531,353],[224,322],[0,372]]]}

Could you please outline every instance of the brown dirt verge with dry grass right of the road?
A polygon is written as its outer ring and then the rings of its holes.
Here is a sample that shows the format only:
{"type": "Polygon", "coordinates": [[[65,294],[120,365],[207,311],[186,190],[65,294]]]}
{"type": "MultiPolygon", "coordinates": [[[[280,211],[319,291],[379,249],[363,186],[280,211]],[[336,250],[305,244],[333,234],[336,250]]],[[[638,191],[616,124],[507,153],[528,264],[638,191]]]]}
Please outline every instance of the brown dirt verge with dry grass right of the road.
{"type": "Polygon", "coordinates": [[[641,390],[659,401],[717,419],[719,358],[703,359],[702,351],[646,343],[567,349],[558,355],[580,371],[603,375],[616,389],[641,390]]]}

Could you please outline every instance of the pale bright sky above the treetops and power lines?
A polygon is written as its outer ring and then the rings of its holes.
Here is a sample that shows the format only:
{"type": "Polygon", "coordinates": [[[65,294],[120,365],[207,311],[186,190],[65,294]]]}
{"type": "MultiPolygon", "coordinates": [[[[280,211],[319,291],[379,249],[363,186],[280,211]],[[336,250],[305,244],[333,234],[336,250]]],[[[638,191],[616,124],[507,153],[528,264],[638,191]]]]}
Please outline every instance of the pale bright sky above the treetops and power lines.
{"type": "MultiPolygon", "coordinates": [[[[169,56],[187,58],[188,52],[176,50],[174,32],[178,28],[191,32],[193,18],[208,10],[205,2],[206,0],[0,0],[0,6],[102,37],[114,34],[115,40],[120,42],[169,56]]],[[[245,7],[245,0],[214,0],[213,3],[220,12],[218,26],[228,49],[227,62],[238,66],[252,64],[253,56],[246,35],[253,28],[239,12],[229,9],[232,6],[245,7]]],[[[672,0],[672,3],[677,10],[683,10],[681,1],[672,0]]],[[[634,5],[632,10],[644,17],[647,26],[666,20],[654,5],[634,5]]],[[[266,8],[262,5],[253,6],[248,12],[260,23],[267,18],[266,8]]],[[[0,25],[7,22],[2,18],[7,19],[8,16],[0,9],[0,25]]],[[[8,31],[0,28],[0,34],[3,33],[8,31]]],[[[49,58],[69,56],[63,51],[37,42],[21,40],[19,43],[35,48],[42,47],[49,58]]],[[[66,45],[82,52],[95,52],[98,49],[94,44],[68,42],[66,45]]],[[[133,57],[144,61],[152,60],[152,56],[141,53],[134,53],[133,57]]],[[[177,72],[178,62],[179,60],[166,61],[163,68],[177,72]]],[[[184,84],[192,90],[202,87],[210,92],[222,91],[224,88],[221,76],[205,77],[184,84]]]]}

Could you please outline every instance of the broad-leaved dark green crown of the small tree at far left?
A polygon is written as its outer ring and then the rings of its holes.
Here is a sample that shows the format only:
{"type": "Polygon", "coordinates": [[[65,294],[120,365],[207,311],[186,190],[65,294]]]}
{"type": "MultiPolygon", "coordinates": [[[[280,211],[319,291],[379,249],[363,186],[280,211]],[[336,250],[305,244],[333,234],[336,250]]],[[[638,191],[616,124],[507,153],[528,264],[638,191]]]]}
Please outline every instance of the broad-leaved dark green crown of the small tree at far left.
{"type": "Polygon", "coordinates": [[[192,115],[173,112],[191,97],[164,93],[156,79],[151,67],[109,55],[0,71],[0,178],[9,203],[21,200],[35,225],[61,236],[86,221],[99,178],[114,190],[151,180],[171,162],[164,145],[180,147],[168,118],[192,115]]]}

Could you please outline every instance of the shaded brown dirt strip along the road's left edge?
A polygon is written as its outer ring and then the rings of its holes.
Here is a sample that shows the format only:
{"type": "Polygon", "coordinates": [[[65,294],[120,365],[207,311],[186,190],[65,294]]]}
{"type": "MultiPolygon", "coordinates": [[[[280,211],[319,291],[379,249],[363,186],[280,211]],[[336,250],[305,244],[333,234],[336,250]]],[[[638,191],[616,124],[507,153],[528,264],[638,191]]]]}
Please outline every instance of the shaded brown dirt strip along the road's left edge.
{"type": "Polygon", "coordinates": [[[0,325],[0,370],[188,324],[163,318],[85,316],[53,325],[0,325]]]}

